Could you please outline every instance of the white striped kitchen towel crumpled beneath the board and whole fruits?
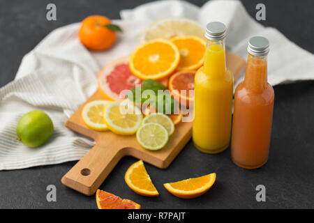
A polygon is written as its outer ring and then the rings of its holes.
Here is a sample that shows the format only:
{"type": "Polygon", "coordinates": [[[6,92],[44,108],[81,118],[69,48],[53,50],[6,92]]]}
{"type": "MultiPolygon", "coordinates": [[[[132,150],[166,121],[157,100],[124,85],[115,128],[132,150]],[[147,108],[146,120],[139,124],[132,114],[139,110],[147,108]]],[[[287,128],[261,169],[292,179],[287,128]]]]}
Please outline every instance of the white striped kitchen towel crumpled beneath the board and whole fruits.
{"type": "Polygon", "coordinates": [[[15,80],[0,89],[0,170],[22,169],[79,160],[94,145],[64,127],[64,122],[97,88],[96,75],[106,63],[126,56],[138,44],[140,33],[163,17],[190,17],[202,24],[227,25],[227,49],[246,58],[248,38],[269,38],[269,82],[280,84],[314,79],[314,57],[273,28],[265,28],[248,16],[240,1],[209,1],[201,8],[185,1],[156,1],[122,10],[119,24],[124,33],[111,49],[89,52],[77,38],[80,24],[52,31],[24,56],[15,80]],[[236,19],[235,19],[236,18],[236,19]],[[39,148],[17,141],[19,118],[32,109],[47,112],[54,134],[39,148]]]}

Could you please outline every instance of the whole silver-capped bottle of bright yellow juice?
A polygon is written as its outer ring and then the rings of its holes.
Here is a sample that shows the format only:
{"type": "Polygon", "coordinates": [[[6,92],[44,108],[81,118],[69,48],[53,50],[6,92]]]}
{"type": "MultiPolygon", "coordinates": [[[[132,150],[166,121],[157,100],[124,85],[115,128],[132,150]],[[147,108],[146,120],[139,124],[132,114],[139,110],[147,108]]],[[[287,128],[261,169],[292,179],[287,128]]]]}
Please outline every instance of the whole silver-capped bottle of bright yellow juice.
{"type": "Polygon", "coordinates": [[[207,24],[204,66],[195,75],[193,142],[204,153],[230,144],[233,76],[225,65],[225,32],[221,22],[207,24]]]}

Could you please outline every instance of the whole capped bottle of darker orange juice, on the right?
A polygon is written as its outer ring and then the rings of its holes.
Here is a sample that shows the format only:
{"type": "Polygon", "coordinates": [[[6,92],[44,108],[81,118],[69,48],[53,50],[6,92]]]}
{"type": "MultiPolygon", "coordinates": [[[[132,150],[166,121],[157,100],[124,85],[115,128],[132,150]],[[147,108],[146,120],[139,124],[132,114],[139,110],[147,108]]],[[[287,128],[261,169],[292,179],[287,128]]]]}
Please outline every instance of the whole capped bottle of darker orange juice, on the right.
{"type": "Polygon", "coordinates": [[[231,156],[246,169],[262,167],[269,154],[274,89],[267,83],[268,52],[267,38],[249,40],[246,76],[234,93],[231,156]]]}

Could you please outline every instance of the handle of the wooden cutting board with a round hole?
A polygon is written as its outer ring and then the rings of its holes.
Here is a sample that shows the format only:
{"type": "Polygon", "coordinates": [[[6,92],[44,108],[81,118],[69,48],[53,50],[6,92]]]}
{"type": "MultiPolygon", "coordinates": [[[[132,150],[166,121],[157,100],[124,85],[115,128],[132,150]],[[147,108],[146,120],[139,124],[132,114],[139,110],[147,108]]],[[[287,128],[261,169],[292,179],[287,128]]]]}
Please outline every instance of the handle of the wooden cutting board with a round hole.
{"type": "Polygon", "coordinates": [[[114,144],[106,146],[97,145],[85,155],[82,160],[77,162],[61,182],[86,195],[92,195],[103,180],[110,174],[114,166],[123,157],[121,148],[114,144]]]}

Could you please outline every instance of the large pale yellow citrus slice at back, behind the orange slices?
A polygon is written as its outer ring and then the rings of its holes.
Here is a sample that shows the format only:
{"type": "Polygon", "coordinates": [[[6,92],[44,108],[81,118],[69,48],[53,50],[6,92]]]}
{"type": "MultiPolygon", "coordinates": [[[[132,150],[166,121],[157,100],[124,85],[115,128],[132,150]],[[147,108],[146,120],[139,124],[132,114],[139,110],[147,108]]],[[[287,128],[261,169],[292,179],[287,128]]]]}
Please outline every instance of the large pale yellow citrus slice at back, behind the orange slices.
{"type": "Polygon", "coordinates": [[[174,36],[193,35],[204,38],[202,25],[184,17],[169,17],[152,23],[140,36],[140,43],[156,38],[170,39],[174,36]]]}

